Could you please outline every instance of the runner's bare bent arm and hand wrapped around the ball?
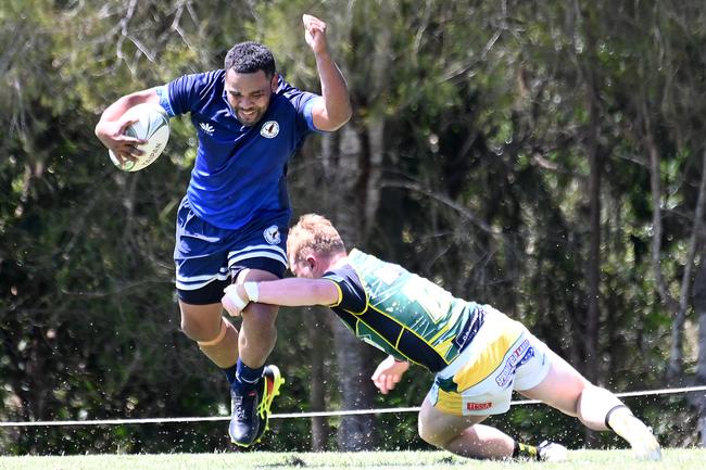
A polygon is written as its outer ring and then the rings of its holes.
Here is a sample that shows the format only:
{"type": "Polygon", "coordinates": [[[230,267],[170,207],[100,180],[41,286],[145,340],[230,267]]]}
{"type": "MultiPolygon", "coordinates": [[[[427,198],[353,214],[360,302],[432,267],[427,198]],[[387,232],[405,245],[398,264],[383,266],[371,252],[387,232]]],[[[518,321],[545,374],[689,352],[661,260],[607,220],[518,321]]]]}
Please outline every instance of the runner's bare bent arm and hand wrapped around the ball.
{"type": "Polygon", "coordinates": [[[140,103],[159,104],[160,97],[153,88],[121,97],[103,111],[96,125],[96,137],[108,150],[115,153],[121,163],[124,163],[125,160],[136,160],[136,156],[142,154],[137,145],[146,143],[146,141],[124,134],[127,126],[136,120],[123,117],[127,110],[140,103]]]}

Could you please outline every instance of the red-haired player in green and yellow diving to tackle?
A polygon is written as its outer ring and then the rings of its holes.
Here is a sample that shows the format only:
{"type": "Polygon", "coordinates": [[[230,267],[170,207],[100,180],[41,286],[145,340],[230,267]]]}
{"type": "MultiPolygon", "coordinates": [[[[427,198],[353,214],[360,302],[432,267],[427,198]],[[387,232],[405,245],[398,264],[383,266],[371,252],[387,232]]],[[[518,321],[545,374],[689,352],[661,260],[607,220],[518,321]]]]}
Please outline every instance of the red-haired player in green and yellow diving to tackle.
{"type": "Polygon", "coordinates": [[[373,374],[383,394],[409,364],[426,367],[436,373],[418,418],[419,435],[428,443],[474,458],[566,458],[559,444],[520,444],[480,424],[507,411],[517,391],[578,417],[592,430],[612,429],[639,458],[660,459],[657,440],[616,395],[593,385],[525,326],[490,305],[456,298],[358,250],[346,253],[338,231],[319,215],[300,218],[287,249],[291,271],[308,279],[230,285],[223,297],[228,313],[239,315],[250,302],[330,307],[358,338],[389,354],[373,374]]]}

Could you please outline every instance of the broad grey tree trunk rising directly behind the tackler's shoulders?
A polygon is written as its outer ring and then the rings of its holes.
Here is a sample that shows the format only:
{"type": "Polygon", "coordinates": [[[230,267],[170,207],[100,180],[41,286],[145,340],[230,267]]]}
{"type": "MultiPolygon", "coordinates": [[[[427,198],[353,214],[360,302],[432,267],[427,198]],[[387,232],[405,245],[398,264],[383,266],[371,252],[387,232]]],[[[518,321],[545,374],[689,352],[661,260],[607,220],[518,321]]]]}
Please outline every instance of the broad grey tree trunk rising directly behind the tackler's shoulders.
{"type": "MultiPolygon", "coordinates": [[[[378,21],[391,24],[396,14],[389,2],[380,4],[378,21]]],[[[327,168],[326,181],[331,207],[338,228],[348,250],[365,249],[366,236],[374,227],[375,215],[380,201],[380,172],[384,149],[384,113],[376,109],[377,97],[384,93],[389,85],[392,53],[390,28],[378,28],[375,50],[367,64],[366,84],[362,88],[351,87],[353,109],[367,107],[365,119],[356,120],[354,115],[339,134],[338,165],[327,168]],[[356,96],[356,90],[363,93],[356,96]],[[365,90],[365,91],[360,91],[365,90]]],[[[333,213],[331,214],[333,215],[333,213]]],[[[338,319],[332,323],[336,339],[336,359],[343,396],[343,409],[367,409],[373,407],[375,386],[370,380],[370,346],[360,342],[338,319]]],[[[375,443],[374,417],[353,415],[343,417],[338,431],[341,450],[367,450],[375,443]]]]}

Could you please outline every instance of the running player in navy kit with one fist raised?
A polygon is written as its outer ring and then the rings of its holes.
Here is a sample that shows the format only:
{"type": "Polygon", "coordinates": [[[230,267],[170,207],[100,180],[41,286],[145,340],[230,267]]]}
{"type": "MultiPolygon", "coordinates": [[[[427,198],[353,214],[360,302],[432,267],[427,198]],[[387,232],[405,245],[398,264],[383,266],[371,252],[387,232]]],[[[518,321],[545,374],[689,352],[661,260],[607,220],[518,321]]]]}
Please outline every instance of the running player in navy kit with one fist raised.
{"type": "Polygon", "coordinates": [[[131,124],[123,115],[131,106],[159,103],[169,116],[191,116],[199,147],[174,250],[181,328],[228,378],[229,435],[241,446],[257,442],[267,429],[272,399],[283,381],[277,367],[265,366],[275,345],[277,307],[251,303],[238,332],[223,316],[223,290],[283,277],[291,218],[287,163],[308,135],[333,131],[351,117],[326,24],[311,15],[302,20],[320,96],[285,81],[265,46],[242,42],[228,51],[223,69],[122,97],[96,126],[101,142],[124,161],[140,154],[141,141],[123,135],[131,124]]]}

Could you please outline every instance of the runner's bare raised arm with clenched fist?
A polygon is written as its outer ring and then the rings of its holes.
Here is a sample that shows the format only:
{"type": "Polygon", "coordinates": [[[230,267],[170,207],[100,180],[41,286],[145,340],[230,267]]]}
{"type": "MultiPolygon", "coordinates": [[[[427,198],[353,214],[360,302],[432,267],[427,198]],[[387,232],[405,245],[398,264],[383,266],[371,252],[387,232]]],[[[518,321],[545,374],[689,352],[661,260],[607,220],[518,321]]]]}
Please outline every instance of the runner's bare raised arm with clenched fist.
{"type": "Polygon", "coordinates": [[[351,99],[343,74],[331,59],[326,40],[326,23],[312,15],[303,15],[304,37],[316,58],[322,81],[322,99],[316,100],[312,114],[320,130],[336,130],[351,118],[351,99]]]}

